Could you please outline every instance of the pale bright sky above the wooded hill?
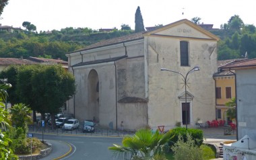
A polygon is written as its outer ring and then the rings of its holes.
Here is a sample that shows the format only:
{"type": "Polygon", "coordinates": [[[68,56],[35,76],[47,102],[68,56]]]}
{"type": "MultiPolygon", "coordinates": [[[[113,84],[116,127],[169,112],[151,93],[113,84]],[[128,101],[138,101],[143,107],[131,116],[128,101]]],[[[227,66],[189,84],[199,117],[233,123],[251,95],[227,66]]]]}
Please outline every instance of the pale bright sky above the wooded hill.
{"type": "Polygon", "coordinates": [[[201,23],[220,28],[233,15],[256,26],[255,5],[255,0],[9,0],[0,24],[25,29],[22,23],[30,22],[38,32],[67,27],[121,29],[122,24],[134,30],[139,6],[145,27],[200,17],[201,23]]]}

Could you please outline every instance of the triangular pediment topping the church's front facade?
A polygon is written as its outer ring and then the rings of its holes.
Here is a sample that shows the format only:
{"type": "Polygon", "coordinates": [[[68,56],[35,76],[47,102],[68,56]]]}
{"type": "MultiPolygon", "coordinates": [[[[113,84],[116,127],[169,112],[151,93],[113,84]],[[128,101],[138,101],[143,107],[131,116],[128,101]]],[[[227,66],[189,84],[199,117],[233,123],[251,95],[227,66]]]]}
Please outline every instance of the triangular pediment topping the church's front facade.
{"type": "Polygon", "coordinates": [[[197,26],[188,19],[168,24],[162,28],[146,32],[143,36],[172,36],[182,38],[200,38],[209,40],[219,40],[217,36],[197,26]]]}

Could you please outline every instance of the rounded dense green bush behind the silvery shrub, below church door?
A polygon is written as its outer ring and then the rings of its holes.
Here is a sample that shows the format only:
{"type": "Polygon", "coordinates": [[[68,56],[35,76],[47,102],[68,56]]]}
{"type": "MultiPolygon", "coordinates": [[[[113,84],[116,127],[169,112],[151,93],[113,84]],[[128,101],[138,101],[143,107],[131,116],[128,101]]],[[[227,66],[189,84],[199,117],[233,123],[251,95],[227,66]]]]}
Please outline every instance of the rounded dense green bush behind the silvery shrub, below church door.
{"type": "Polygon", "coordinates": [[[184,142],[187,141],[187,133],[189,133],[195,141],[195,144],[200,147],[203,144],[203,131],[195,128],[184,128],[184,127],[177,127],[172,129],[172,135],[174,135],[174,138],[172,138],[172,142],[169,143],[170,146],[174,145],[174,143],[177,143],[179,140],[179,135],[181,135],[184,142]]]}

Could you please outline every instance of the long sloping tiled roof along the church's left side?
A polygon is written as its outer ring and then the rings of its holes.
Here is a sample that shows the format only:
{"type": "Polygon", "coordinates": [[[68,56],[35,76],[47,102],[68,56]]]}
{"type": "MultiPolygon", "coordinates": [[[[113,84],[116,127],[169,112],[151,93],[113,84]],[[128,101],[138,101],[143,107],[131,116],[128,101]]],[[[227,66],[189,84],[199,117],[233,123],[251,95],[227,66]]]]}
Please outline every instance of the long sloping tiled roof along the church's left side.
{"type": "MultiPolygon", "coordinates": [[[[100,42],[97,42],[95,44],[87,46],[86,48],[84,48],[82,50],[89,50],[89,49],[98,48],[98,47],[101,47],[101,46],[108,46],[108,45],[111,45],[111,44],[129,42],[131,40],[139,40],[139,39],[143,38],[142,34],[143,34],[143,32],[138,32],[138,33],[135,33],[135,34],[129,34],[129,35],[126,35],[126,36],[112,38],[112,39],[109,39],[109,40],[102,40],[100,42]]],[[[81,51],[81,50],[76,50],[74,52],[78,52],[78,51],[81,51]]]]}

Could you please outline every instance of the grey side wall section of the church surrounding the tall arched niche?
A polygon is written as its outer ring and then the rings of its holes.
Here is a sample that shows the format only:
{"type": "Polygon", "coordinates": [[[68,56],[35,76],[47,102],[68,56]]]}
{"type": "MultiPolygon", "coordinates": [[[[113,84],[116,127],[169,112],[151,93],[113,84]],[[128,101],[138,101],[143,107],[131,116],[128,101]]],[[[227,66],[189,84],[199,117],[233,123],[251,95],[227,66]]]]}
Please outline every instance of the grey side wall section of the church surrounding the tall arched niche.
{"type": "Polygon", "coordinates": [[[99,79],[99,122],[108,126],[110,122],[116,125],[116,94],[115,94],[115,65],[85,66],[74,69],[77,83],[75,94],[75,118],[79,121],[92,120],[92,108],[88,104],[88,74],[94,69],[99,79]]]}

